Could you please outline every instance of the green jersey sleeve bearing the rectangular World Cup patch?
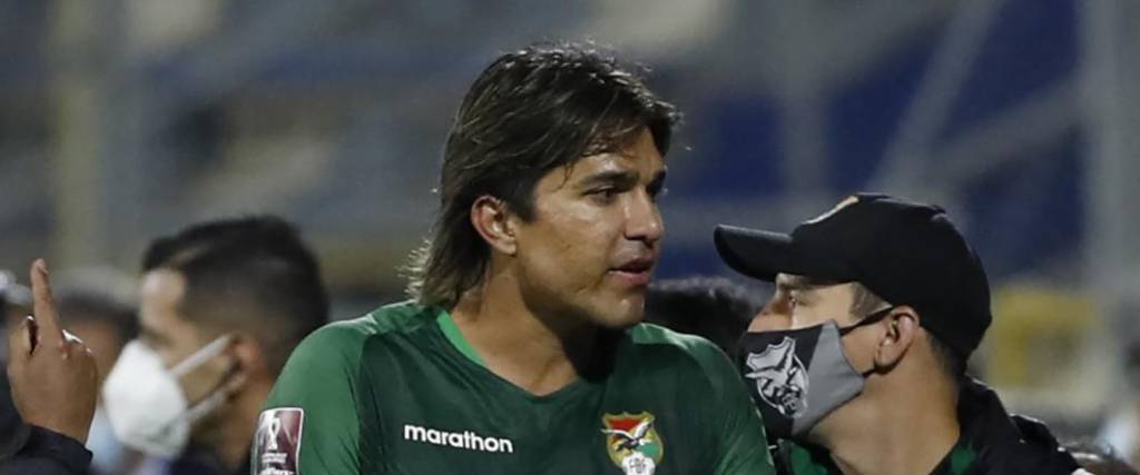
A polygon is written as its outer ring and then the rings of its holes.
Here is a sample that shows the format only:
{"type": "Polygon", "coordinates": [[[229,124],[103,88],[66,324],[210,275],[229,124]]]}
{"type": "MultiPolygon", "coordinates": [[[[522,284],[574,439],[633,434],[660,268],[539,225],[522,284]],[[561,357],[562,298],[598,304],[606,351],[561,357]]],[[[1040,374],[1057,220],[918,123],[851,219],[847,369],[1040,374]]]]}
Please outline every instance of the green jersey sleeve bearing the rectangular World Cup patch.
{"type": "Polygon", "coordinates": [[[253,475],[360,473],[357,383],[364,338],[352,322],[336,322],[293,351],[258,419],[253,475]]]}

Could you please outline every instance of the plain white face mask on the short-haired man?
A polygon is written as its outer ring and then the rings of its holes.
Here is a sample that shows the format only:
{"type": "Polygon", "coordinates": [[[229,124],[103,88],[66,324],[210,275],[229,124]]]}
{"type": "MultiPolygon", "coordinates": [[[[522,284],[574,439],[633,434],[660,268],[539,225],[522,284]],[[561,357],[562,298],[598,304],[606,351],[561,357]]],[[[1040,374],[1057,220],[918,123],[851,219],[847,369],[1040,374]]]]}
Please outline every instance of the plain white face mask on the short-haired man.
{"type": "Polygon", "coordinates": [[[170,369],[141,342],[128,343],[103,385],[103,404],[119,440],[153,456],[179,454],[190,426],[217,410],[228,394],[214,390],[192,407],[178,379],[221,354],[229,342],[229,336],[219,337],[170,369]]]}

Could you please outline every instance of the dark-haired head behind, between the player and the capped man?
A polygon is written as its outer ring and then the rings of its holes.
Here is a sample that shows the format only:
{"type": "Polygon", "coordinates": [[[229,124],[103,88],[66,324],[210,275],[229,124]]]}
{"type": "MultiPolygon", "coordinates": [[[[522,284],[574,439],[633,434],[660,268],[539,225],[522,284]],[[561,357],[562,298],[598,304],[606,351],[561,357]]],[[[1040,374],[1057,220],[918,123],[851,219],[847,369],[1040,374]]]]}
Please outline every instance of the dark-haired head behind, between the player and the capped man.
{"type": "Polygon", "coordinates": [[[645,293],[645,321],[703,337],[727,354],[764,302],[756,293],[723,277],[657,280],[645,293]]]}

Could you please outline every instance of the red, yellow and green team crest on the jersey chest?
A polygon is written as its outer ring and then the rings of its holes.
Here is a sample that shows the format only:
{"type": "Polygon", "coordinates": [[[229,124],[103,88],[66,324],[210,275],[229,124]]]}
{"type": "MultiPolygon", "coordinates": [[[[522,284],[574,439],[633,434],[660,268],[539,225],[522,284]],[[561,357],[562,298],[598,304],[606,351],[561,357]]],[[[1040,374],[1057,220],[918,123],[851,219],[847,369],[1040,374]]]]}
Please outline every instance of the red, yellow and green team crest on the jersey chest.
{"type": "Polygon", "coordinates": [[[653,420],[649,412],[602,416],[605,451],[626,475],[653,475],[665,457],[665,444],[653,428],[653,420]]]}

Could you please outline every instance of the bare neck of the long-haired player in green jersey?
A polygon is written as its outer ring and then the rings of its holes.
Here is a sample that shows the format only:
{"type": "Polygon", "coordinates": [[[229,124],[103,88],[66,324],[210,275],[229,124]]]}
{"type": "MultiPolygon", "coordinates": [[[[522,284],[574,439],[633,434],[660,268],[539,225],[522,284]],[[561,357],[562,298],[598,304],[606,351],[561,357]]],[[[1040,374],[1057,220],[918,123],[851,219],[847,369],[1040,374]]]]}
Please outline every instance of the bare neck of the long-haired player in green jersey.
{"type": "Polygon", "coordinates": [[[598,334],[588,325],[539,314],[506,272],[462,297],[451,319],[491,372],[535,395],[577,380],[598,334]]]}

